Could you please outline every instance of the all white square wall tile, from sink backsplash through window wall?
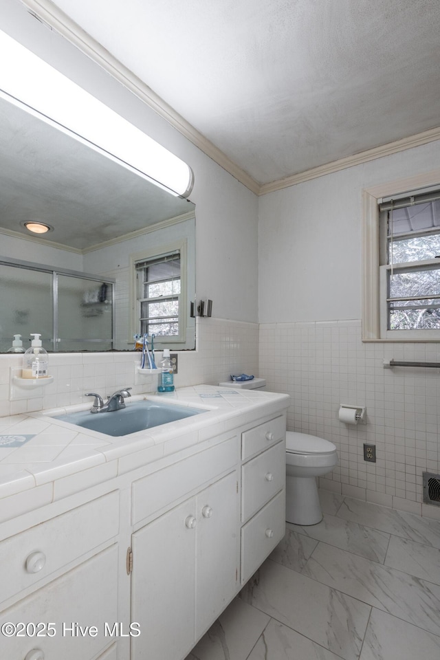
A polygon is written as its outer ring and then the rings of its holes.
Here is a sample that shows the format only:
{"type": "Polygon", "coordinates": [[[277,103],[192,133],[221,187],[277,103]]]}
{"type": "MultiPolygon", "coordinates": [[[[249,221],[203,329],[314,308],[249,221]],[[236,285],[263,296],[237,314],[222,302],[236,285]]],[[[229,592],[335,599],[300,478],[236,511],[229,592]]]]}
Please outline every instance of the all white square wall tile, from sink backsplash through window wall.
{"type": "MultiPolygon", "coordinates": [[[[333,492],[440,518],[421,505],[421,473],[440,472],[440,383],[437,369],[384,369],[384,358],[440,361],[437,344],[362,343],[360,320],[262,324],[197,319],[197,351],[179,353],[177,387],[217,384],[231,373],[267,379],[268,389],[292,397],[287,428],[336,444],[340,463],[322,479],[333,492]],[[366,424],[338,419],[340,403],[366,406],[366,424]],[[363,443],[375,443],[365,463],[363,443]]],[[[0,355],[0,417],[89,401],[87,391],[154,392],[155,378],[135,374],[133,353],[50,355],[54,383],[10,398],[15,355],[0,355]]],[[[15,393],[17,395],[17,393],[15,393]]],[[[1,424],[1,423],[0,423],[1,424]]]]}

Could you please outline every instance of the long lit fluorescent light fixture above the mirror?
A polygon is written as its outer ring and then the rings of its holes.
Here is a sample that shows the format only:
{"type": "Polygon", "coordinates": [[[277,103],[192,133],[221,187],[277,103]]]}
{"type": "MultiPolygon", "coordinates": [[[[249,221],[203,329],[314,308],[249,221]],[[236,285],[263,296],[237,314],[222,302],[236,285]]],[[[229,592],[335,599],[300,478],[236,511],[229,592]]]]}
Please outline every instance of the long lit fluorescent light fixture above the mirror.
{"type": "Polygon", "coordinates": [[[176,197],[190,166],[0,30],[0,94],[176,197]]]}

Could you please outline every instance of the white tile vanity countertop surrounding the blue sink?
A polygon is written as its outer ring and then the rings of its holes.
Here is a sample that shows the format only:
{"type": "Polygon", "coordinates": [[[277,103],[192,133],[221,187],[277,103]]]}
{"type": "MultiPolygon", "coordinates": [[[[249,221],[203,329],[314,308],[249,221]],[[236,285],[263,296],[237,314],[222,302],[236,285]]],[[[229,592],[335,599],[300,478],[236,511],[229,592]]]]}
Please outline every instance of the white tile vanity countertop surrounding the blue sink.
{"type": "Polygon", "coordinates": [[[234,428],[237,415],[244,413],[243,423],[250,423],[281,413],[289,405],[285,394],[210,385],[131,400],[140,399],[160,399],[207,412],[124,437],[50,417],[87,410],[90,404],[0,417],[0,522],[175,452],[180,458],[182,450],[234,428]]]}

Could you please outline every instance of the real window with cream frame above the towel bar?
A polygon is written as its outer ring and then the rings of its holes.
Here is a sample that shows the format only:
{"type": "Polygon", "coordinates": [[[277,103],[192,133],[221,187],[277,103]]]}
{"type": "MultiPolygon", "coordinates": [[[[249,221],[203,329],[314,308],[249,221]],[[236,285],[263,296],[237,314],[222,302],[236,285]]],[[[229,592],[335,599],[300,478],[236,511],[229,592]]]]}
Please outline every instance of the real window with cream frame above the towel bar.
{"type": "Polygon", "coordinates": [[[364,340],[440,341],[440,185],[365,201],[364,340]]]}

